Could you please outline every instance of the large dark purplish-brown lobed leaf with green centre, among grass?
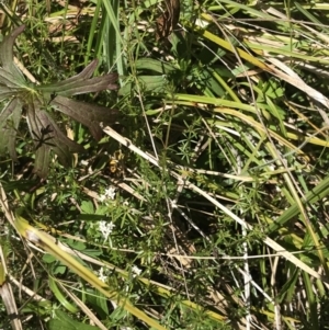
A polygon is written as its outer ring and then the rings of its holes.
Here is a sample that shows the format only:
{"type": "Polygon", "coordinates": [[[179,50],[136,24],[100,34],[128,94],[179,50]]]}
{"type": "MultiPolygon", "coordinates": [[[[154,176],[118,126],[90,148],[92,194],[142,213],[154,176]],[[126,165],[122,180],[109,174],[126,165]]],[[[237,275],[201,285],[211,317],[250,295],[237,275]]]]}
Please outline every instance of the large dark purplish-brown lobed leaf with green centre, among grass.
{"type": "Polygon", "coordinates": [[[100,127],[112,124],[117,111],[97,104],[75,101],[72,95],[116,90],[116,73],[92,77],[98,60],[90,62],[77,76],[48,84],[35,84],[26,81],[13,58],[13,45],[24,31],[21,25],[3,38],[0,45],[0,101],[7,101],[0,114],[0,153],[9,152],[16,160],[15,140],[20,122],[26,117],[29,130],[35,145],[34,171],[41,178],[48,173],[52,151],[64,166],[70,166],[73,152],[83,151],[83,147],[69,139],[54,118],[54,112],[61,112],[87,126],[91,135],[99,140],[100,127]]]}

